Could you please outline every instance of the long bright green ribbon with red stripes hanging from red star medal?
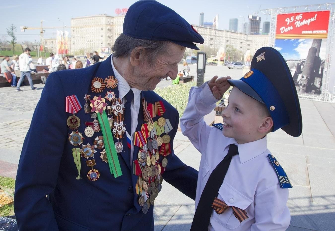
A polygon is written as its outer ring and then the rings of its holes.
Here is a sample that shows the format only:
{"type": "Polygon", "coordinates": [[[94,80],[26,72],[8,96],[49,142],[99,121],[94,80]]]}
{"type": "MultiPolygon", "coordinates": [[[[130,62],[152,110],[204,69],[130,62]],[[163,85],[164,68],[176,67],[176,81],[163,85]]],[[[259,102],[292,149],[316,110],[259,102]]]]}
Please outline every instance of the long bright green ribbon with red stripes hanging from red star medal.
{"type": "Polygon", "coordinates": [[[118,153],[115,149],[114,139],[109,126],[108,117],[106,111],[103,111],[102,114],[97,113],[98,121],[100,123],[101,131],[104,137],[105,150],[108,159],[109,169],[111,174],[114,173],[114,177],[122,176],[122,171],[119,163],[118,153]]]}

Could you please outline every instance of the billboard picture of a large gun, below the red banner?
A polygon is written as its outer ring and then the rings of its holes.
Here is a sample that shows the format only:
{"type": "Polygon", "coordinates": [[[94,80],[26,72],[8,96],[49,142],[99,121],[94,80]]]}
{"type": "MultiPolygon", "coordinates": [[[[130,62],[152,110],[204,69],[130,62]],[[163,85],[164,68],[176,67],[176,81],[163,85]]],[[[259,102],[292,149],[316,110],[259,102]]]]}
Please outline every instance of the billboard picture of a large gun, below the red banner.
{"type": "Polygon", "coordinates": [[[298,93],[321,94],[326,39],[277,39],[277,49],[290,68],[298,93]]]}

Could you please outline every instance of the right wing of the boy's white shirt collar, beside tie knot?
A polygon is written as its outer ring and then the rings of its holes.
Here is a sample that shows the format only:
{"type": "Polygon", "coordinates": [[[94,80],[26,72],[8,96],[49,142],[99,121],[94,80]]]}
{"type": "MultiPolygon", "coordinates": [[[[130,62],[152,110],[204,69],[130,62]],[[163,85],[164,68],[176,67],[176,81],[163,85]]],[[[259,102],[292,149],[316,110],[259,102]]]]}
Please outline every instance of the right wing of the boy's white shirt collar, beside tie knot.
{"type": "Polygon", "coordinates": [[[256,140],[253,142],[249,142],[245,144],[237,144],[237,143],[235,144],[237,145],[239,149],[239,157],[240,157],[241,164],[262,154],[267,149],[266,136],[260,140],[256,140]]]}

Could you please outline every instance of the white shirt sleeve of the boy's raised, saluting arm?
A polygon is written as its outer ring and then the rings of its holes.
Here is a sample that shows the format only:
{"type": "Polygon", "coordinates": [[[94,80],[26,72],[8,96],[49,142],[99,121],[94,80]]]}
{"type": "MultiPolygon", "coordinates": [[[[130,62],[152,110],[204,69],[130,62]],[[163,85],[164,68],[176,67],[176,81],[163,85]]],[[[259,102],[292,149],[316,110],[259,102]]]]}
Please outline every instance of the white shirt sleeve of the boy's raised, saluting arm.
{"type": "Polygon", "coordinates": [[[210,113],[216,99],[209,86],[205,82],[200,87],[192,87],[189,93],[189,101],[180,119],[180,128],[183,135],[187,136],[194,147],[203,152],[206,148],[211,127],[204,121],[204,116],[210,113]]]}

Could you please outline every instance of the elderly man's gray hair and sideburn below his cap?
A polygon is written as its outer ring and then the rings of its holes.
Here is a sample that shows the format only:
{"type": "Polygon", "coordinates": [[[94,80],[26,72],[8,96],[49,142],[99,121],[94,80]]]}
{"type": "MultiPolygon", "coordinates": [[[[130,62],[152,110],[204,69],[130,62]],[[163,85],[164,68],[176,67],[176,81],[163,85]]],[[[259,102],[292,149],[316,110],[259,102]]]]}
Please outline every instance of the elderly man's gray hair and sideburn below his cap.
{"type": "Polygon", "coordinates": [[[170,41],[146,40],[130,37],[124,33],[116,39],[112,47],[113,57],[129,57],[136,47],[143,47],[146,50],[145,59],[149,66],[154,66],[158,55],[166,54],[170,41]]]}

